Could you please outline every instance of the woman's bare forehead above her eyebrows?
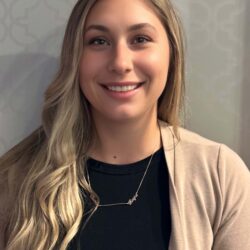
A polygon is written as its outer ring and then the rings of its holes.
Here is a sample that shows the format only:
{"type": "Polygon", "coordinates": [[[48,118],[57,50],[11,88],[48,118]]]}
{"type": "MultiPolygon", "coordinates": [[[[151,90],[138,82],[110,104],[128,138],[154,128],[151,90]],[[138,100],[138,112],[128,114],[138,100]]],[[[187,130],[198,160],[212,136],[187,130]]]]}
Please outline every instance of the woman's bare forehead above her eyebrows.
{"type": "Polygon", "coordinates": [[[136,23],[149,23],[156,27],[161,25],[161,21],[150,1],[98,0],[87,15],[85,29],[93,24],[122,27],[136,23]]]}

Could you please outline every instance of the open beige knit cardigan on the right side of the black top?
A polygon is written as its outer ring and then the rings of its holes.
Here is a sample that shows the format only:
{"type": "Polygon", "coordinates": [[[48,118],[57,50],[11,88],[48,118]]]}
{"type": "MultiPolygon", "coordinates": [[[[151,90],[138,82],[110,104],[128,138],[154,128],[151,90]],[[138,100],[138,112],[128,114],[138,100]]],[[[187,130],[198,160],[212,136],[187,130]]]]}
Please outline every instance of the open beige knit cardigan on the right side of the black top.
{"type": "Polygon", "coordinates": [[[250,250],[250,172],[232,150],[160,122],[169,171],[170,250],[250,250]],[[174,146],[175,145],[175,146],[174,146]]]}

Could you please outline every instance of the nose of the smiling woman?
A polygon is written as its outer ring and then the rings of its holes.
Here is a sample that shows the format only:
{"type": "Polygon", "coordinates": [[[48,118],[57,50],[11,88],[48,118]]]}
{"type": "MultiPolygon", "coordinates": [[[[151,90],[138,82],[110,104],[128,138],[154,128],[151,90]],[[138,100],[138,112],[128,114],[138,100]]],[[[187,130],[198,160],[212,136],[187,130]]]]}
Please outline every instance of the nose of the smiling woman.
{"type": "Polygon", "coordinates": [[[131,50],[125,42],[118,42],[111,49],[108,70],[117,73],[128,73],[133,69],[131,50]]]}

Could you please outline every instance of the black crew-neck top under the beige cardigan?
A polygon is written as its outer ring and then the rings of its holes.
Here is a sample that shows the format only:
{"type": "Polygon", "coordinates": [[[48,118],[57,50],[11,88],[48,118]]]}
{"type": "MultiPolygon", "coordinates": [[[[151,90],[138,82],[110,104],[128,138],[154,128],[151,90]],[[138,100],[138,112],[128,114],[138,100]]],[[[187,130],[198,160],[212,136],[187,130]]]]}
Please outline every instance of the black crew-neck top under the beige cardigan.
{"type": "MultiPolygon", "coordinates": [[[[92,188],[100,204],[132,198],[150,157],[127,165],[89,159],[92,188]]],[[[68,248],[76,250],[166,250],[171,233],[168,171],[161,148],[152,159],[137,200],[131,205],[99,207],[68,248]]]]}

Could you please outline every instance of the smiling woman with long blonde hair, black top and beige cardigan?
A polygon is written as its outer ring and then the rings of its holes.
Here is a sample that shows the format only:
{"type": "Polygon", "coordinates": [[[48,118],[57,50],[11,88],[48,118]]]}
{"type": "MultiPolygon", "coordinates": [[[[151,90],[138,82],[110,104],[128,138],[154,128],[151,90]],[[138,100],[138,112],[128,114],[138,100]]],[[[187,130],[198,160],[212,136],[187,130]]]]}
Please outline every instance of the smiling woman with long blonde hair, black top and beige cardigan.
{"type": "Polygon", "coordinates": [[[42,126],[1,166],[2,249],[250,249],[250,174],[179,127],[169,0],[79,0],[42,126]]]}

